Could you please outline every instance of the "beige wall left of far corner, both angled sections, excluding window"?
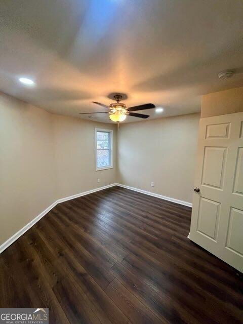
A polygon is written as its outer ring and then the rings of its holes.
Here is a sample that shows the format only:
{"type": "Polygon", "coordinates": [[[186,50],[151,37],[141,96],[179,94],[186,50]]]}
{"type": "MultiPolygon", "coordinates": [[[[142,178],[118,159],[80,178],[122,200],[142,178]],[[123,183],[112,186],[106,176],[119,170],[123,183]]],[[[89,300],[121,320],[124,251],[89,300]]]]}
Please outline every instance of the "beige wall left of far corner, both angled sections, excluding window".
{"type": "Polygon", "coordinates": [[[115,125],[1,94],[0,140],[0,245],[57,199],[116,182],[115,125]],[[114,130],[113,169],[95,171],[95,127],[114,130]]]}

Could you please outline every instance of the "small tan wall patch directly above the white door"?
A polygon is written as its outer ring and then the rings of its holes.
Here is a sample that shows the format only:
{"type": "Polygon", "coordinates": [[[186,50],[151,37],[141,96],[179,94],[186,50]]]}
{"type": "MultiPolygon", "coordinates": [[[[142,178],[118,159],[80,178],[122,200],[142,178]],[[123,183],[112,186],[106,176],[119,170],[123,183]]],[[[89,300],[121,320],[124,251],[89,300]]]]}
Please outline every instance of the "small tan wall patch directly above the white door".
{"type": "Polygon", "coordinates": [[[201,118],[243,111],[243,87],[204,95],[201,118]]]}

